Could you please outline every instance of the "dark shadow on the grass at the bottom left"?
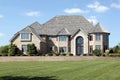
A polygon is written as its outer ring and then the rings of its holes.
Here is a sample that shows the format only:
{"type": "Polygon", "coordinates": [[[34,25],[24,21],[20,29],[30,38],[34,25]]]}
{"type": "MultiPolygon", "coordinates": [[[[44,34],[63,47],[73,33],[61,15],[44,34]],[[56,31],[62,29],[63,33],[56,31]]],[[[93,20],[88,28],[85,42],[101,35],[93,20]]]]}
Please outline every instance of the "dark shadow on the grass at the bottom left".
{"type": "Polygon", "coordinates": [[[0,80],[57,80],[54,76],[47,77],[25,77],[25,76],[3,76],[0,80]]]}

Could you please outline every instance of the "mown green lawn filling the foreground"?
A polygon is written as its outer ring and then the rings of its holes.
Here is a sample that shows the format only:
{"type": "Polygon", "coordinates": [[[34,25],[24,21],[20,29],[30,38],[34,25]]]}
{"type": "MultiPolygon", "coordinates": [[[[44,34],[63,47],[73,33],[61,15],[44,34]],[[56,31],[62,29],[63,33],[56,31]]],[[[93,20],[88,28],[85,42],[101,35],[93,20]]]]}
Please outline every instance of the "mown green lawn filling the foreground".
{"type": "Polygon", "coordinates": [[[0,80],[120,80],[120,61],[0,62],[0,80]]]}

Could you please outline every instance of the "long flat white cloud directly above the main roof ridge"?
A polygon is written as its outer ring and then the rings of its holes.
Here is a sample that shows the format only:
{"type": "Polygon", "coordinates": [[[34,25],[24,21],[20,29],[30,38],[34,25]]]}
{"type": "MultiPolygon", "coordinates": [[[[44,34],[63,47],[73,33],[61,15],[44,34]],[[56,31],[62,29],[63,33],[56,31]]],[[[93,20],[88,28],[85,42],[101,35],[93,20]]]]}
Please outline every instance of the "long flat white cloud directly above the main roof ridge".
{"type": "Polygon", "coordinates": [[[79,8],[66,8],[64,12],[68,14],[76,14],[76,13],[88,13],[89,11],[81,10],[79,8]]]}

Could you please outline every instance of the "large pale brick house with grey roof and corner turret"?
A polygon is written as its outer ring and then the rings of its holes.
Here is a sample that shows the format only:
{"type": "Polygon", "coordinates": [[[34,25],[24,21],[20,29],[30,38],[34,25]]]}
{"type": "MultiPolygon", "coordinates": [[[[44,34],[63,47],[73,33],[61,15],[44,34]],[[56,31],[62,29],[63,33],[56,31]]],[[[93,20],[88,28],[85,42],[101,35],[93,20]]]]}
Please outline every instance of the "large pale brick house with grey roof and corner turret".
{"type": "Polygon", "coordinates": [[[11,43],[25,54],[27,44],[34,43],[39,53],[70,52],[92,54],[99,49],[109,48],[110,33],[101,26],[95,26],[83,16],[56,16],[44,24],[35,22],[17,32],[11,43]]]}

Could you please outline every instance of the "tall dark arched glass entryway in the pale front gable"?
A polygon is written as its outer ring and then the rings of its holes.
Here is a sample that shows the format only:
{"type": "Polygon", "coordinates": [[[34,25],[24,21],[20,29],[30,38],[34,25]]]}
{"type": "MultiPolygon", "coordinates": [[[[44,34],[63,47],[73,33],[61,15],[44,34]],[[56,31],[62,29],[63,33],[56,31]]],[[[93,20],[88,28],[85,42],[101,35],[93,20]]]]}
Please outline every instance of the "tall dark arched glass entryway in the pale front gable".
{"type": "Polygon", "coordinates": [[[84,53],[84,39],[79,36],[76,38],[76,55],[81,55],[84,53]]]}

